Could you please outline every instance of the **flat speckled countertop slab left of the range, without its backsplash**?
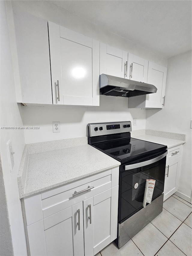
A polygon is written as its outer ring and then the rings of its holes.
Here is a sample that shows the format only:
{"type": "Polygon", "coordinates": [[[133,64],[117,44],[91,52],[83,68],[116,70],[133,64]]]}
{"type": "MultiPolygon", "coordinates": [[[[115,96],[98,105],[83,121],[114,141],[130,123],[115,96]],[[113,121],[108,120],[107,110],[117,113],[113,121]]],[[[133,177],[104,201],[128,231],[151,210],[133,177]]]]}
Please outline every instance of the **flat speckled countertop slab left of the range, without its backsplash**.
{"type": "Polygon", "coordinates": [[[119,165],[119,161],[88,144],[31,153],[28,158],[26,182],[24,181],[23,188],[19,190],[20,198],[119,165]]]}

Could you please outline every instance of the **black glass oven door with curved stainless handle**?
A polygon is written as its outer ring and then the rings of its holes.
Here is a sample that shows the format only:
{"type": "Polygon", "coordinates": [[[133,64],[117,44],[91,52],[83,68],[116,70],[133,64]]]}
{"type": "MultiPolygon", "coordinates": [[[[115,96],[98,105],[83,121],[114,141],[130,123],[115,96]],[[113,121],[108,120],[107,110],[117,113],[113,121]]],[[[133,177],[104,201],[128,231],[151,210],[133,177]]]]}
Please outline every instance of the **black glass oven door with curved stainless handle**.
{"type": "MultiPolygon", "coordinates": [[[[158,157],[120,166],[119,222],[143,208],[146,179],[155,179],[152,200],[163,193],[167,150],[158,157]]],[[[150,157],[151,158],[151,157],[150,157]]]]}

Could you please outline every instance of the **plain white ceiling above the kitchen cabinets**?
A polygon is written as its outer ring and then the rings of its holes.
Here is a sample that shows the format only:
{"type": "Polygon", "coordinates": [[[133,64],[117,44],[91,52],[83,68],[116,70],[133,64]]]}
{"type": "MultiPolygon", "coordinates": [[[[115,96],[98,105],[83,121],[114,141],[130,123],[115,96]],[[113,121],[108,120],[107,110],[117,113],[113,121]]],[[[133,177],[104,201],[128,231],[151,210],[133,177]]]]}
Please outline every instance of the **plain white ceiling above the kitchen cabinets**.
{"type": "Polygon", "coordinates": [[[167,58],[191,50],[191,0],[52,2],[167,58]]]}

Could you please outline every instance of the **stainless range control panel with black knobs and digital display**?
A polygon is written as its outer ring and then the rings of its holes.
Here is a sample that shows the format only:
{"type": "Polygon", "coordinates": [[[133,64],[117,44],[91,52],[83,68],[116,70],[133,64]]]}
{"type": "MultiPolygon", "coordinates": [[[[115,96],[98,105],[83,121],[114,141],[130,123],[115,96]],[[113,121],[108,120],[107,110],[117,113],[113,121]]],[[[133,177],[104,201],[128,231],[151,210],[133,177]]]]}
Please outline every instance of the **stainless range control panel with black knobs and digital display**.
{"type": "Polygon", "coordinates": [[[89,129],[90,137],[132,131],[131,121],[93,123],[93,124],[88,124],[88,129],[89,129]]]}

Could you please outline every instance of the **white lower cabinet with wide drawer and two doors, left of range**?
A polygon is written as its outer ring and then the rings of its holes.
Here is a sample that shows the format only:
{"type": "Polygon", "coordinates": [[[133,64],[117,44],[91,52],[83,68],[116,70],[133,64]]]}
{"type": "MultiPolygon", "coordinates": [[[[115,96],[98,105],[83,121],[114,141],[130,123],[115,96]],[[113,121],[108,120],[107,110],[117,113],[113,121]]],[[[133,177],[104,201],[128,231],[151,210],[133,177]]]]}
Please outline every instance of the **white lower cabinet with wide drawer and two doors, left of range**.
{"type": "Polygon", "coordinates": [[[116,239],[118,176],[115,167],[24,198],[28,255],[93,256],[116,239]]]}

